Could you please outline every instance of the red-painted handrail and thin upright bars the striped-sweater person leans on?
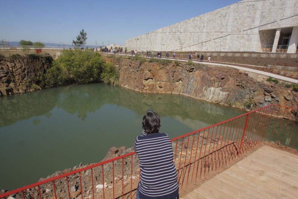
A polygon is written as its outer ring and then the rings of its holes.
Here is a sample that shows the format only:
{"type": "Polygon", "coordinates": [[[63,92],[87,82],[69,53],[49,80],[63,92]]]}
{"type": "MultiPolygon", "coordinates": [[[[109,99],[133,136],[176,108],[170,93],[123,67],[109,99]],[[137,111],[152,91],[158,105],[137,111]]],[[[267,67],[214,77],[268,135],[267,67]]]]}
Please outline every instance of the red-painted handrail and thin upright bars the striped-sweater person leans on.
{"type": "MultiPolygon", "coordinates": [[[[193,167],[193,172],[192,172],[192,176],[193,176],[194,172],[195,172],[195,163],[197,163],[197,169],[196,169],[196,178],[197,178],[198,168],[199,168],[198,162],[201,161],[201,164],[202,164],[201,165],[201,173],[199,175],[200,178],[201,178],[203,167],[204,167],[204,175],[205,175],[206,165],[208,166],[208,164],[210,165],[210,163],[211,163],[212,170],[213,170],[214,169],[213,166],[215,164],[215,169],[216,169],[219,166],[225,164],[227,162],[227,158],[228,158],[228,161],[229,161],[230,158],[233,158],[233,153],[234,152],[237,152],[237,155],[240,155],[240,154],[242,154],[242,152],[245,152],[250,147],[251,142],[256,143],[256,142],[262,142],[263,140],[265,141],[265,139],[267,137],[267,134],[268,134],[268,131],[269,131],[269,126],[271,124],[272,117],[275,117],[275,119],[273,118],[273,120],[272,120],[272,121],[274,121],[274,126],[273,126],[271,136],[270,136],[270,141],[271,141],[271,138],[272,138],[275,126],[276,126],[277,118],[280,117],[279,114],[283,114],[283,117],[281,118],[280,127],[279,127],[279,130],[278,130],[278,134],[277,134],[277,137],[276,137],[276,140],[275,140],[275,142],[276,142],[277,139],[278,139],[278,135],[280,133],[281,126],[283,124],[283,120],[285,118],[285,113],[287,111],[287,113],[290,113],[290,115],[288,116],[288,122],[286,123],[286,127],[285,127],[285,130],[284,130],[283,138],[282,138],[281,142],[283,142],[283,140],[286,140],[284,137],[285,137],[285,134],[286,134],[286,130],[287,130],[289,121],[291,120],[291,116],[292,116],[291,114],[292,114],[293,110],[298,112],[298,109],[295,109],[295,108],[270,104],[270,105],[267,105],[265,107],[253,110],[251,112],[247,112],[245,114],[236,116],[234,118],[230,118],[228,120],[222,121],[220,123],[213,124],[209,127],[205,127],[205,128],[202,128],[202,129],[199,129],[199,130],[196,130],[196,131],[193,131],[193,132],[190,132],[190,133],[187,133],[187,134],[184,134],[184,135],[181,135],[181,136],[178,136],[176,138],[171,139],[172,142],[176,141],[176,149],[174,150],[174,154],[175,154],[174,159],[175,159],[176,155],[177,155],[178,140],[182,138],[181,151],[178,152],[178,158],[179,158],[179,155],[180,155],[178,172],[179,172],[180,169],[182,169],[181,174],[183,173],[184,170],[185,170],[185,173],[184,173],[183,178],[182,178],[181,186],[183,186],[183,184],[184,184],[184,176],[186,175],[187,166],[190,166],[190,167],[194,166],[193,167]],[[276,116],[273,115],[274,108],[278,108],[278,112],[277,112],[276,116]],[[280,112],[281,108],[283,108],[285,110],[280,112]],[[270,116],[270,114],[271,114],[271,116],[270,116]],[[270,118],[270,121],[269,121],[269,118],[270,118]],[[236,124],[237,124],[237,127],[236,127],[236,124]],[[236,131],[235,131],[235,127],[236,127],[236,131]],[[232,131],[232,129],[233,129],[233,131],[232,131]],[[218,130],[219,130],[219,132],[218,132],[218,130]],[[234,131],[235,131],[235,134],[234,134],[234,131]],[[201,132],[203,132],[203,136],[200,135],[201,132]],[[198,135],[197,135],[198,137],[195,138],[197,133],[198,133],[198,135]],[[207,135],[207,138],[206,138],[205,134],[207,135]],[[227,137],[228,134],[229,134],[229,137],[227,137]],[[236,134],[237,134],[237,138],[236,138],[236,134]],[[190,136],[191,135],[193,135],[192,143],[190,141],[190,136]],[[216,138],[217,135],[218,135],[218,138],[216,138]],[[231,137],[231,135],[232,135],[232,137],[231,137]],[[240,139],[239,139],[239,135],[240,135],[240,139]],[[201,141],[199,140],[200,136],[202,137],[201,141]],[[184,160],[184,166],[181,167],[180,164],[181,164],[181,157],[182,157],[182,153],[183,153],[182,152],[183,151],[183,146],[186,143],[186,141],[185,141],[185,143],[183,145],[184,138],[188,138],[188,139],[187,139],[187,147],[186,147],[186,152],[185,152],[186,155],[185,155],[185,160],[184,160]],[[197,139],[197,141],[195,141],[196,139],[197,139]],[[204,139],[205,139],[206,143],[204,143],[204,139]],[[211,150],[212,141],[215,143],[216,139],[217,139],[216,149],[215,149],[215,144],[213,144],[213,149],[211,150]],[[249,142],[249,140],[251,142],[249,142]],[[208,142],[209,142],[209,145],[208,145],[208,142]],[[203,146],[203,143],[204,143],[204,146],[203,146]],[[222,146],[223,143],[224,143],[224,145],[222,146]],[[191,145],[191,148],[189,147],[189,144],[191,145]],[[193,150],[194,150],[193,149],[194,144],[196,145],[197,149],[195,150],[195,158],[193,159],[192,153],[193,153],[193,150]],[[218,149],[219,144],[220,144],[220,147],[218,149]],[[197,152],[198,152],[197,150],[198,150],[199,145],[201,145],[201,147],[200,147],[201,151],[200,151],[200,154],[199,154],[199,158],[196,159],[197,152]],[[207,150],[207,145],[209,146],[209,150],[207,150]],[[202,152],[202,149],[204,147],[205,147],[205,149],[204,149],[204,155],[203,155],[203,154],[201,154],[201,152],[202,152]],[[187,150],[191,151],[189,160],[187,159],[187,155],[188,155],[187,150]],[[220,150],[220,152],[219,152],[219,150],[220,150]],[[205,155],[206,152],[207,152],[207,156],[208,156],[208,163],[206,162],[207,161],[206,160],[206,155],[205,155]],[[229,155],[226,156],[226,152],[230,152],[232,154],[232,155],[230,155],[231,157],[229,155]],[[225,163],[224,163],[224,158],[222,157],[222,161],[221,161],[221,158],[220,158],[220,156],[223,156],[223,154],[224,154],[224,157],[225,157],[225,163]],[[201,155],[203,155],[202,157],[205,158],[204,160],[201,158],[201,155]],[[209,162],[210,156],[211,156],[211,160],[209,162]],[[189,163],[186,164],[186,161],[189,161],[189,163]],[[204,164],[203,164],[202,161],[204,161],[204,164]]],[[[291,133],[290,133],[288,138],[291,138],[291,136],[292,136],[294,125],[295,125],[296,119],[297,119],[297,113],[296,113],[296,116],[293,115],[293,118],[295,118],[295,120],[294,120],[293,127],[291,128],[291,133]]],[[[270,134],[268,134],[268,135],[270,135],[270,134]]],[[[298,133],[295,137],[294,144],[293,144],[292,148],[294,148],[297,137],[298,137],[298,133]]],[[[283,144],[283,143],[281,143],[281,144],[283,144]]],[[[288,146],[288,144],[289,144],[289,139],[287,140],[286,146],[288,146]]],[[[180,146],[180,144],[179,144],[179,146],[180,146]]],[[[40,186],[43,185],[43,184],[46,184],[46,183],[51,183],[51,182],[53,183],[55,197],[56,197],[55,181],[59,180],[61,178],[65,178],[65,177],[66,177],[68,193],[69,193],[69,186],[68,186],[68,176],[69,175],[73,175],[73,174],[76,174],[76,173],[81,174],[81,172],[86,171],[88,169],[91,169],[91,173],[92,173],[92,169],[95,168],[95,167],[98,167],[98,166],[102,166],[102,174],[103,174],[103,165],[107,164],[107,163],[111,163],[111,162],[113,162],[113,197],[114,197],[114,161],[122,159],[122,176],[123,176],[123,159],[131,156],[131,175],[132,175],[132,167],[133,167],[132,166],[132,158],[133,158],[133,155],[135,155],[135,152],[130,152],[128,154],[121,155],[121,156],[116,157],[116,158],[112,158],[112,159],[109,159],[109,160],[106,160],[106,161],[95,163],[95,164],[92,164],[90,166],[86,166],[86,167],[81,168],[81,169],[77,169],[77,170],[62,174],[62,175],[58,175],[58,176],[55,176],[55,177],[52,177],[52,178],[49,178],[49,179],[45,179],[43,181],[33,183],[33,184],[30,184],[30,185],[27,185],[27,186],[12,190],[10,192],[6,192],[4,194],[1,194],[0,198],[7,197],[9,195],[13,195],[13,194],[16,194],[16,193],[19,193],[19,192],[22,193],[22,196],[24,198],[24,191],[27,190],[27,189],[33,188],[33,187],[38,187],[39,196],[41,198],[40,186]]],[[[175,162],[176,162],[176,159],[175,159],[175,162]]],[[[178,161],[177,161],[177,163],[178,163],[178,161]]],[[[188,176],[190,175],[190,172],[191,172],[191,169],[189,168],[186,184],[188,183],[188,176]]],[[[208,167],[208,172],[209,172],[209,167],[208,167]]],[[[79,175],[79,176],[80,176],[80,183],[81,183],[81,175],[79,175]]],[[[104,176],[103,176],[103,178],[104,178],[104,176]]],[[[196,180],[196,178],[195,178],[195,180],[196,180]]],[[[181,178],[179,178],[178,180],[181,180],[181,178]]],[[[193,178],[191,178],[191,181],[192,180],[193,180],[193,178]]],[[[104,180],[103,180],[103,182],[104,182],[104,180]]],[[[93,185],[93,176],[92,176],[92,187],[93,186],[94,185],[93,185]]],[[[122,179],[122,187],[123,187],[123,179],[122,179]]],[[[82,188],[82,186],[81,186],[81,188],[82,188]]],[[[92,189],[94,189],[94,187],[92,189]]],[[[131,192],[132,192],[132,178],[131,178],[131,192]]],[[[81,193],[82,193],[82,191],[81,191],[81,193]]],[[[123,189],[122,189],[122,195],[123,195],[123,189]]],[[[94,193],[93,193],[93,197],[94,197],[94,193]]],[[[83,198],[83,195],[82,195],[82,198],[83,198]]]]}

